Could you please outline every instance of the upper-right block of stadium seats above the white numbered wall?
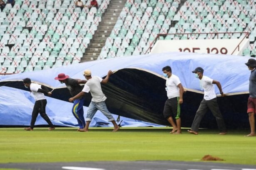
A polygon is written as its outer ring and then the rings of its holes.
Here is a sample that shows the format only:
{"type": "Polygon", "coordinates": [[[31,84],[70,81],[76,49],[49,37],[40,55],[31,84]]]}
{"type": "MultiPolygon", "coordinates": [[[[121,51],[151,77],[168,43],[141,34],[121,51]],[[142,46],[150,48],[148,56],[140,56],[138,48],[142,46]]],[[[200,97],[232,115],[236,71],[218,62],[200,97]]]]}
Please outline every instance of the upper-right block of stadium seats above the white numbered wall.
{"type": "MultiPolygon", "coordinates": [[[[251,32],[249,49],[244,49],[244,56],[255,57],[256,38],[256,1],[255,0],[188,0],[174,16],[175,29],[169,33],[214,33],[214,32],[251,32]]],[[[200,34],[197,39],[237,39],[245,34],[200,34]]],[[[186,36],[176,36],[187,39],[186,36]]],[[[174,37],[175,38],[175,37],[174,37]]],[[[189,37],[193,39],[194,37],[189,37]]],[[[165,39],[172,39],[167,36],[165,39]]]]}

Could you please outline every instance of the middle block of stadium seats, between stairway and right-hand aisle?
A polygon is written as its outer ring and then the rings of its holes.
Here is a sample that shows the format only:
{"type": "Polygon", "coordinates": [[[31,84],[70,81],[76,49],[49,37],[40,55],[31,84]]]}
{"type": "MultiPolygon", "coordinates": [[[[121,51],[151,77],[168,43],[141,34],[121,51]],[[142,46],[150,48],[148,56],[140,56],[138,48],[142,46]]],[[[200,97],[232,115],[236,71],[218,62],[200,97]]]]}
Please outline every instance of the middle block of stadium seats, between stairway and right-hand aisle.
{"type": "Polygon", "coordinates": [[[127,0],[98,59],[145,53],[157,34],[167,33],[180,0],[127,0]]]}

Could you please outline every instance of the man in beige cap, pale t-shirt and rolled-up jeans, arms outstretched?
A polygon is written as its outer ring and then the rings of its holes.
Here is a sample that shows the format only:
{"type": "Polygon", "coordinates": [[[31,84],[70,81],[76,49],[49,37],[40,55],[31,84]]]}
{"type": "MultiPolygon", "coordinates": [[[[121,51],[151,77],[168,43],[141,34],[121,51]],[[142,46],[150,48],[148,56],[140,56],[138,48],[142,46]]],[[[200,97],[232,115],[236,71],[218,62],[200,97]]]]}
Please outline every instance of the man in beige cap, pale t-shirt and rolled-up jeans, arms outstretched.
{"type": "Polygon", "coordinates": [[[77,94],[74,97],[71,97],[69,99],[70,102],[73,102],[77,98],[80,98],[85,95],[85,93],[91,92],[92,95],[92,101],[89,104],[89,108],[87,110],[87,116],[86,116],[86,125],[85,128],[80,130],[80,131],[88,131],[89,129],[89,124],[92,121],[92,118],[94,117],[95,113],[97,110],[100,110],[107,118],[108,121],[112,122],[114,125],[114,130],[113,132],[116,132],[120,129],[120,127],[117,125],[116,121],[114,120],[114,117],[112,114],[108,111],[105,100],[107,97],[104,95],[102,92],[101,84],[106,84],[109,81],[110,75],[112,75],[112,71],[109,70],[107,73],[106,78],[102,79],[98,76],[93,76],[90,70],[85,70],[84,71],[84,76],[87,80],[87,83],[85,84],[85,87],[83,88],[82,92],[77,94]]]}

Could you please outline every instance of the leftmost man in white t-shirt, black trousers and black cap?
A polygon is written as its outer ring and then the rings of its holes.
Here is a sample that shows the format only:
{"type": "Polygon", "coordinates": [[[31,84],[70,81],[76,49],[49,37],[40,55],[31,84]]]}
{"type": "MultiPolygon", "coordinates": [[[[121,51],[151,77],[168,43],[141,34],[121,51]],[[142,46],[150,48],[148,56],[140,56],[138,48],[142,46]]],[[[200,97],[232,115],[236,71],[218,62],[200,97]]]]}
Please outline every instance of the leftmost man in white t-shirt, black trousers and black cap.
{"type": "Polygon", "coordinates": [[[47,116],[45,112],[45,107],[47,104],[47,101],[45,99],[45,95],[52,95],[51,92],[48,91],[47,87],[44,85],[39,85],[36,83],[31,83],[30,78],[25,78],[23,80],[23,83],[26,88],[29,88],[30,91],[33,93],[35,98],[35,105],[32,112],[32,119],[30,123],[30,127],[24,128],[26,131],[32,131],[35,126],[35,121],[37,119],[38,113],[40,113],[41,117],[45,119],[45,121],[49,124],[50,128],[49,131],[52,131],[55,129],[52,122],[50,121],[50,118],[47,116]]]}

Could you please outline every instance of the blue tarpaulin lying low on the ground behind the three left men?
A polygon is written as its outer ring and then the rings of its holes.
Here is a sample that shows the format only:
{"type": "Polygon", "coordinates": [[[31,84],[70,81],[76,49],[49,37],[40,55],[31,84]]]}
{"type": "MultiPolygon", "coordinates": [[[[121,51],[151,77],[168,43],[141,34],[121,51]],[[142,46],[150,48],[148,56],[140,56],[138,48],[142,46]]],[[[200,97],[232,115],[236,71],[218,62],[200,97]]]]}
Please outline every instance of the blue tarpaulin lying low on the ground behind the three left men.
{"type": "MultiPolygon", "coordinates": [[[[71,109],[72,103],[46,97],[46,113],[55,126],[78,126],[77,119],[73,116],[71,109]]],[[[29,126],[31,114],[35,100],[32,93],[12,87],[0,87],[0,125],[5,126],[29,126]]],[[[86,113],[88,107],[84,106],[86,113]]],[[[86,114],[85,114],[86,116],[86,114]]],[[[117,115],[113,115],[117,119],[117,115]]],[[[139,120],[120,117],[122,126],[160,126],[157,124],[147,123],[139,120]]],[[[35,125],[47,124],[42,117],[37,117],[35,125]]],[[[90,126],[93,127],[110,127],[112,123],[99,111],[95,114],[90,126]]]]}

